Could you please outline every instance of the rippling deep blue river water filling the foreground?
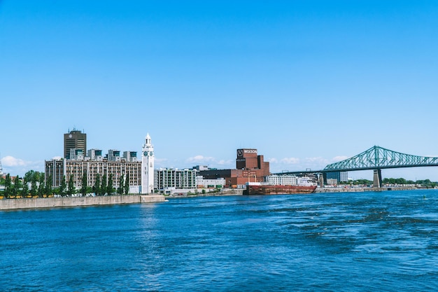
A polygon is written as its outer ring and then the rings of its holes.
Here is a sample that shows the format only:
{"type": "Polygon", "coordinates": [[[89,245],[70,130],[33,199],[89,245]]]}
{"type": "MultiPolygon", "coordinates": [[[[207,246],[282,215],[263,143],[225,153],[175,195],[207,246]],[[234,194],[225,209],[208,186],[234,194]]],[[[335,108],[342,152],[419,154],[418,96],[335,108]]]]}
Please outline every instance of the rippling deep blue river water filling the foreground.
{"type": "Polygon", "coordinates": [[[438,291],[438,190],[0,212],[0,291],[438,291]]]}

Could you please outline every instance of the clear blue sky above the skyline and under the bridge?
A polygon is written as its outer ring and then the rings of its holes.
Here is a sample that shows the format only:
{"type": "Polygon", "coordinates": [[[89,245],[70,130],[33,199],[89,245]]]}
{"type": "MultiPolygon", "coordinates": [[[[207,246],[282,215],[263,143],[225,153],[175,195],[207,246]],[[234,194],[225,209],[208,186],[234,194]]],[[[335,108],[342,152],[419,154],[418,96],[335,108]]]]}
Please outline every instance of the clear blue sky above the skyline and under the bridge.
{"type": "Polygon", "coordinates": [[[157,167],[438,156],[437,27],[437,1],[0,0],[3,172],[43,171],[73,127],[104,153],[149,132],[157,167]]]}

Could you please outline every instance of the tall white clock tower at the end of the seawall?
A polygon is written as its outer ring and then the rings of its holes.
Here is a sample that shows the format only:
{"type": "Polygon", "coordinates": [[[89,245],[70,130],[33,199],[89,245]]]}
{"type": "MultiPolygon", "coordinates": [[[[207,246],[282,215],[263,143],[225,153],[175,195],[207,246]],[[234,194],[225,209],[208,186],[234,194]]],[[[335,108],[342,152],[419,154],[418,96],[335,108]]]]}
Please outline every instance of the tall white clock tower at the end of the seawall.
{"type": "Polygon", "coordinates": [[[154,191],[154,146],[150,141],[149,133],[141,148],[141,193],[152,194],[154,191]]]}

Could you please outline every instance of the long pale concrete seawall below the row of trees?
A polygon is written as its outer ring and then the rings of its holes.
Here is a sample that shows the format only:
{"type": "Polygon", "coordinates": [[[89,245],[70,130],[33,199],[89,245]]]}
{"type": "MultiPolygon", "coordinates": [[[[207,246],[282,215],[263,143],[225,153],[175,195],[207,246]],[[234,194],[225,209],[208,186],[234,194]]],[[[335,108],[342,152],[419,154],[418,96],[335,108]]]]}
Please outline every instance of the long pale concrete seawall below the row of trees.
{"type": "Polygon", "coordinates": [[[99,197],[38,197],[0,200],[0,210],[78,207],[107,204],[164,202],[163,195],[108,195],[99,197]]]}

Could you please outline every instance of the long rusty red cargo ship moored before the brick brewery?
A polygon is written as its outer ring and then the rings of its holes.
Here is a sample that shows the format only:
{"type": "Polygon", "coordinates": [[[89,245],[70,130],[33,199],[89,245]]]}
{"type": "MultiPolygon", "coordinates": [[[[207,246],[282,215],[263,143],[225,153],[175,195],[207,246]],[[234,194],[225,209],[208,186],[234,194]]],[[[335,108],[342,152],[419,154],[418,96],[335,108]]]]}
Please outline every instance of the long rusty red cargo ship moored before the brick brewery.
{"type": "Polygon", "coordinates": [[[264,183],[246,183],[243,195],[288,195],[308,194],[316,190],[316,185],[270,185],[264,183]]]}

